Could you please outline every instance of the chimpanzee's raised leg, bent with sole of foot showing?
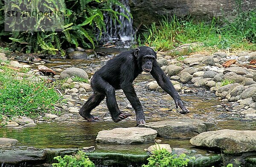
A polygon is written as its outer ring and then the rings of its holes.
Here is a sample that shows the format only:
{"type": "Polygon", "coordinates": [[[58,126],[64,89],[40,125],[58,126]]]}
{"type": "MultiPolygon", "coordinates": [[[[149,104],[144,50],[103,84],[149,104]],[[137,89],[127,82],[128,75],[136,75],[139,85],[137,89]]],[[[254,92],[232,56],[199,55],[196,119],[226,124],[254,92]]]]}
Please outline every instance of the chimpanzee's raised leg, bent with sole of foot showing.
{"type": "Polygon", "coordinates": [[[111,117],[114,122],[119,122],[122,119],[127,118],[127,116],[131,116],[131,114],[122,113],[119,110],[118,105],[116,103],[115,88],[113,88],[113,86],[111,86],[108,82],[102,79],[101,76],[93,76],[92,84],[94,89],[100,91],[100,93],[105,93],[108,110],[110,111],[111,117]],[[95,83],[95,81],[97,82],[95,83]]]}

